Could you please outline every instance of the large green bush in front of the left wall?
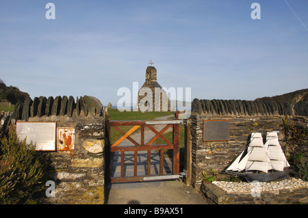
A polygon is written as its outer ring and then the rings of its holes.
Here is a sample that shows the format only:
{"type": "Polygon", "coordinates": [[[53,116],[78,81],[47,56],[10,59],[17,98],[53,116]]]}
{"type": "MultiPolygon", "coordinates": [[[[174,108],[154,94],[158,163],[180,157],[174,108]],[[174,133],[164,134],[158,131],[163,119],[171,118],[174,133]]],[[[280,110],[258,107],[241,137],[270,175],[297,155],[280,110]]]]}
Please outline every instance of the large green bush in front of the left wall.
{"type": "Polygon", "coordinates": [[[34,204],[32,198],[44,189],[47,161],[34,146],[18,141],[14,130],[0,143],[0,204],[34,204]]]}

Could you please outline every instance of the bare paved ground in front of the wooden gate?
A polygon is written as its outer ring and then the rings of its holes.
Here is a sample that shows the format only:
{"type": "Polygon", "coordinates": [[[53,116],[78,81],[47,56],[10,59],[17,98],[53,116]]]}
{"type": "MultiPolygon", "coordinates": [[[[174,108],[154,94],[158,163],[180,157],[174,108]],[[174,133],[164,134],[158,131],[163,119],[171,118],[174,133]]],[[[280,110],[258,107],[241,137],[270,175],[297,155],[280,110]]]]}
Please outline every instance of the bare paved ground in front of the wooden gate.
{"type": "Polygon", "coordinates": [[[117,183],[108,188],[107,204],[207,204],[202,193],[181,180],[117,183]]]}

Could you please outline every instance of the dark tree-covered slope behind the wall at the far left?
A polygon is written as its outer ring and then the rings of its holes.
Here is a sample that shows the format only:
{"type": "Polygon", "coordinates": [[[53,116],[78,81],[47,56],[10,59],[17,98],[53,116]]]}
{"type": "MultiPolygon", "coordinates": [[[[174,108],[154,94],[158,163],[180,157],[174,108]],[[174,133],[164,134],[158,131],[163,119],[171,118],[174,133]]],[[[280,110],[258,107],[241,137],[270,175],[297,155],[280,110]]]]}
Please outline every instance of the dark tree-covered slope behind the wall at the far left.
{"type": "Polygon", "coordinates": [[[21,92],[18,87],[10,85],[9,87],[0,79],[0,102],[9,102],[13,105],[23,103],[25,99],[30,98],[27,92],[21,92]]]}

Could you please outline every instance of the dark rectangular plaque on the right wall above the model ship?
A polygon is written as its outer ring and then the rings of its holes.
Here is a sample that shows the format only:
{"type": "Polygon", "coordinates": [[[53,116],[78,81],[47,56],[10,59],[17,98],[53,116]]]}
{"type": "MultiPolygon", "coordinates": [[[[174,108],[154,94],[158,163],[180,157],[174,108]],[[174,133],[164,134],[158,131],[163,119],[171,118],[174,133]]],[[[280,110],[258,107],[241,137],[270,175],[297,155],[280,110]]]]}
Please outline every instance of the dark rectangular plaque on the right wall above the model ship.
{"type": "Polygon", "coordinates": [[[230,120],[203,120],[203,141],[229,141],[230,120]]]}

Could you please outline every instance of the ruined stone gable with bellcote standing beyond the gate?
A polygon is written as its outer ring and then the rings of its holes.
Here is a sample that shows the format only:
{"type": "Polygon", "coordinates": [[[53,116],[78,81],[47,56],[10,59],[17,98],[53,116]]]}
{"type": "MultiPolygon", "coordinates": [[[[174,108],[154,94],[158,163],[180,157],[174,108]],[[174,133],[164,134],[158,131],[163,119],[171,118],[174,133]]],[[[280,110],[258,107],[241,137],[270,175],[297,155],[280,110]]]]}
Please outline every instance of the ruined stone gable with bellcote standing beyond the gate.
{"type": "Polygon", "coordinates": [[[170,100],[162,86],[157,83],[157,70],[153,66],[146,68],[146,81],[138,92],[139,110],[170,111],[170,100]]]}

